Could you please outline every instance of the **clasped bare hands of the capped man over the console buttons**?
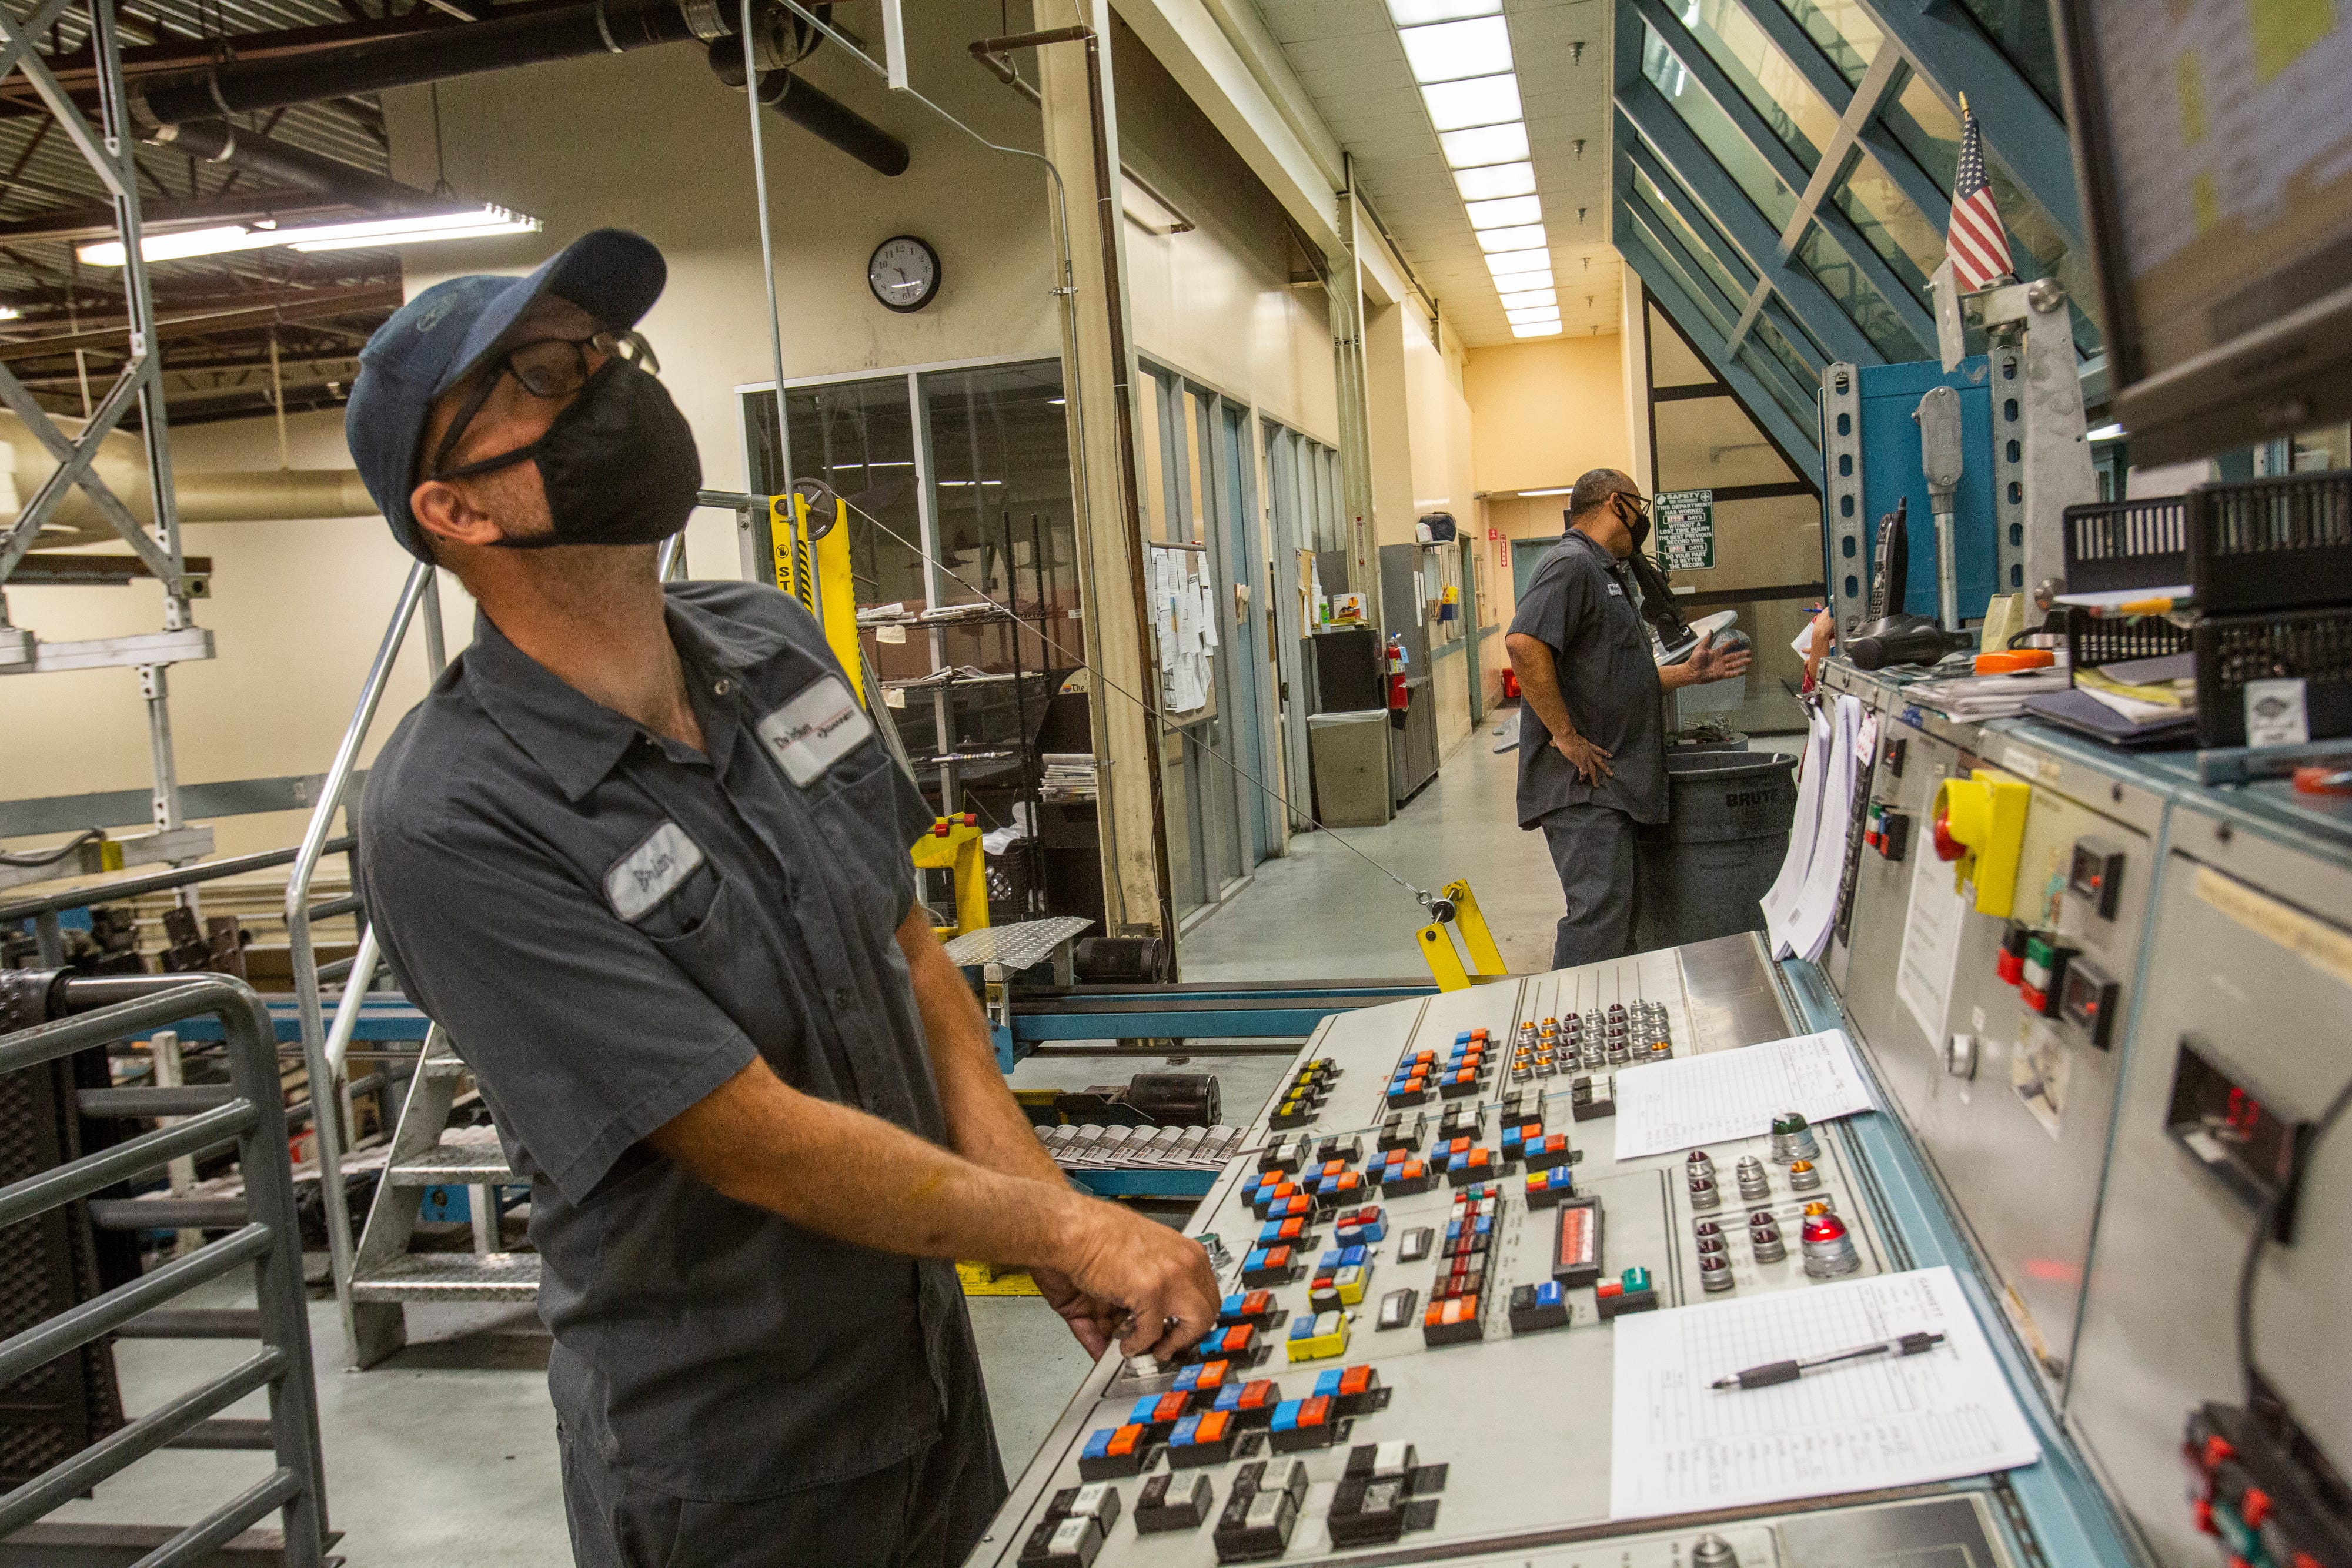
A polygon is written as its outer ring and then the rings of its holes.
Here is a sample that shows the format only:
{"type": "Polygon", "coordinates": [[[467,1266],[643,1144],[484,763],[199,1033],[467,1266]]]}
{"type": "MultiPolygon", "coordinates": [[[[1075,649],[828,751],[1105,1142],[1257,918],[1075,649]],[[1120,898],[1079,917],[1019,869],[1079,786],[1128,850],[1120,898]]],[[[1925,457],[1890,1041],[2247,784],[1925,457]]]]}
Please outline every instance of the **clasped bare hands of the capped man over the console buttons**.
{"type": "Polygon", "coordinates": [[[1167,1361],[1216,1328],[1216,1272],[1200,1241],[1103,1199],[1080,1199],[1061,1255],[1033,1276],[1096,1354],[1117,1335],[1122,1354],[1167,1361]]]}

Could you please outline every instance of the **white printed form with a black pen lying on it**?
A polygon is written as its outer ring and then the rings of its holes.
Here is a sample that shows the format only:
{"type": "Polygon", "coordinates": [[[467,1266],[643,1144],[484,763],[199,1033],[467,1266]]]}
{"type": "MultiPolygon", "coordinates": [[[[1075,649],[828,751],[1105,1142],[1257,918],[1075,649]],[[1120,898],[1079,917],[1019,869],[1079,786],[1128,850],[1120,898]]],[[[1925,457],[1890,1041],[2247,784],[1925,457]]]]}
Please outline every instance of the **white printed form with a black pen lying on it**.
{"type": "Polygon", "coordinates": [[[2042,1458],[1950,1267],[1616,1319],[1609,1516],[1952,1481],[2042,1458]],[[1717,1389],[1766,1361],[1940,1333],[1795,1382],[1717,1389]]]}

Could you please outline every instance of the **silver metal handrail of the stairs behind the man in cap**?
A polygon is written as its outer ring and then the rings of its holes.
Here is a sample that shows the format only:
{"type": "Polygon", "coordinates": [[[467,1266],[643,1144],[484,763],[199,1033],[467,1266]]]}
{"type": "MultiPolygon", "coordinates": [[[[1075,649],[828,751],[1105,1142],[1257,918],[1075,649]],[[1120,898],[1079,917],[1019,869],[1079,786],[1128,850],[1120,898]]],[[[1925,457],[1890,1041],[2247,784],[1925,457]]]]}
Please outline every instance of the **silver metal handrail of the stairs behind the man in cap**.
{"type": "MultiPolygon", "coordinates": [[[[419,609],[423,609],[426,616],[426,665],[435,679],[442,672],[445,649],[440,592],[433,567],[416,562],[409,567],[409,578],[402,583],[400,599],[393,604],[393,618],[383,628],[383,642],[376,646],[376,661],[367,668],[367,679],[360,682],[360,701],[350,710],[350,724],[343,729],[343,743],[334,750],[334,764],[320,783],[318,804],[310,809],[308,827],[303,827],[301,849],[294,853],[294,870],[287,875],[287,964],[294,971],[294,1013],[301,1027],[303,1074],[310,1079],[310,1126],[318,1138],[318,1187],[320,1206],[327,1218],[327,1267],[334,1276],[334,1305],[343,1321],[343,1349],[353,1361],[358,1359],[358,1326],[350,1316],[353,1234],[350,1204],[343,1197],[346,1128],[341,1114],[341,1060],[329,1060],[327,1056],[327,1016],[320,994],[322,983],[318,971],[318,947],[310,940],[310,884],[318,879],[318,865],[325,858],[327,839],[334,832],[334,813],[343,809],[343,792],[350,788],[350,776],[360,764],[360,748],[367,743],[367,731],[376,722],[376,708],[383,703],[383,691],[393,679],[393,665],[400,661],[400,646],[407,642],[419,609]]],[[[353,969],[358,971],[358,966],[353,969]]],[[[367,978],[353,973],[346,978],[341,1001],[350,1004],[350,997],[365,990],[367,978]]],[[[353,1018],[358,1018],[355,1011],[353,1018]]]]}

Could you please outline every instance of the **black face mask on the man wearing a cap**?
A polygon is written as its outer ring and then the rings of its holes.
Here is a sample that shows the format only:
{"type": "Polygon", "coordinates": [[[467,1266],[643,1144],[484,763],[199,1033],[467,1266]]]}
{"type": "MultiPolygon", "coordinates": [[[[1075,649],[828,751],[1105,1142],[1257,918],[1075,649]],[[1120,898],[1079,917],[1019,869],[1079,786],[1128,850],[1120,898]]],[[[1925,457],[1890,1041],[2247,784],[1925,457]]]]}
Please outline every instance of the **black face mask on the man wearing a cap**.
{"type": "Polygon", "coordinates": [[[550,545],[659,545],[687,527],[703,487],[694,428],[649,371],[609,360],[529,447],[466,463],[463,480],[515,463],[539,463],[553,534],[501,538],[510,550],[550,545]]]}

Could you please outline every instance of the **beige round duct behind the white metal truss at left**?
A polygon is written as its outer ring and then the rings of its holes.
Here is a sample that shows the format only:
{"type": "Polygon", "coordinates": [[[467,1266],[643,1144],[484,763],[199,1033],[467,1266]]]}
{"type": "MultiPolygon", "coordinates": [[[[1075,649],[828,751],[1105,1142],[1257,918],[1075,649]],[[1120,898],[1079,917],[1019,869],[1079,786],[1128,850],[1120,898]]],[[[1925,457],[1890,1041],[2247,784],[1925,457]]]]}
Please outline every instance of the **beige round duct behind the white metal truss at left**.
{"type": "MultiPolygon", "coordinates": [[[[73,421],[59,421],[71,425],[73,421]]],[[[40,444],[24,421],[0,414],[0,534],[7,534],[24,512],[24,503],[40,491],[42,480],[56,470],[56,458],[40,444]]],[[[129,508],[132,517],[153,527],[155,498],[148,491],[146,447],[136,435],[115,430],[99,447],[92,463],[99,480],[129,508]]],[[[172,480],[172,496],[179,503],[181,522],[278,522],[313,517],[374,517],[376,503],[360,484],[355,468],[259,468],[245,473],[181,473],[172,480]]],[[[75,487],[66,503],[49,515],[38,550],[64,550],[71,545],[115,543],[115,531],[89,501],[89,491],[75,487]]]]}

